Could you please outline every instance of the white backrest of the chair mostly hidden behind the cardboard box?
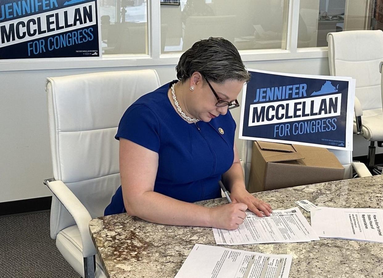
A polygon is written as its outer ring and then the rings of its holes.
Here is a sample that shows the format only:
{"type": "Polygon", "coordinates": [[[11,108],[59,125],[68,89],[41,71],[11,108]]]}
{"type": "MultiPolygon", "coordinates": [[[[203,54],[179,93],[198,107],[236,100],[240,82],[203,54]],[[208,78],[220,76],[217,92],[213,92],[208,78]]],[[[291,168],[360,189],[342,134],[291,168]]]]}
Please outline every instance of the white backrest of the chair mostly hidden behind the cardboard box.
{"type": "MultiPolygon", "coordinates": [[[[241,159],[244,162],[244,169],[245,169],[245,183],[246,188],[249,185],[249,177],[250,177],[250,166],[251,166],[251,154],[252,154],[252,147],[253,142],[251,140],[242,140],[242,156],[241,159]]],[[[344,179],[352,178],[352,151],[350,150],[332,150],[328,149],[329,151],[333,152],[337,159],[339,160],[340,164],[344,167],[344,179]]]]}

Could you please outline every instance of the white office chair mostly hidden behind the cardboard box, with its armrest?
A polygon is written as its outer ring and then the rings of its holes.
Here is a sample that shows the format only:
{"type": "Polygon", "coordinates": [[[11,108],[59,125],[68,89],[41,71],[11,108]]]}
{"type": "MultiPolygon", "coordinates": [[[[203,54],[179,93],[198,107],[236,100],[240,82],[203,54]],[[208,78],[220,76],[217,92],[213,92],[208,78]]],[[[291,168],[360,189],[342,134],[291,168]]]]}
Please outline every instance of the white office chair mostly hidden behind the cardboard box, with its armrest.
{"type": "MultiPolygon", "coordinates": [[[[251,154],[252,154],[253,141],[251,140],[242,140],[242,169],[245,175],[245,184],[246,188],[249,185],[250,177],[250,168],[251,168],[251,154]]],[[[352,162],[352,151],[350,150],[332,150],[340,164],[344,167],[344,179],[353,177],[353,170],[357,173],[358,177],[368,177],[371,176],[370,171],[368,171],[366,165],[361,162],[352,162]]]]}

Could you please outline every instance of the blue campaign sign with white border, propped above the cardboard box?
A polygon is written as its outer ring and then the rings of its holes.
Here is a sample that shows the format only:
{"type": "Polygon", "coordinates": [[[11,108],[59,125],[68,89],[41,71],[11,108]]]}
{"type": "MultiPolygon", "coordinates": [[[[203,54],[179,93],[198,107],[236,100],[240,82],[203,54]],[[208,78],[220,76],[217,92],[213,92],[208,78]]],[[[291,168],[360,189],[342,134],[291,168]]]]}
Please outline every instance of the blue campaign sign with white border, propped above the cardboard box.
{"type": "Polygon", "coordinates": [[[355,79],[249,69],[239,138],[352,150],[355,79]]]}

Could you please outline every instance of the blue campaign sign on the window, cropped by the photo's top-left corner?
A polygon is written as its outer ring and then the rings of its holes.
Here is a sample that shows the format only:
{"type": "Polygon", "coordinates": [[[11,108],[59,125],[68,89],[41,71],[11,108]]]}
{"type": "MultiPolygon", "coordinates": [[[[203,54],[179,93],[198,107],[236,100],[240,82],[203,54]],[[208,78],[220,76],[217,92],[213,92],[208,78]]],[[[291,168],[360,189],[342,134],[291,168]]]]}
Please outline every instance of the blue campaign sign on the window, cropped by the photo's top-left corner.
{"type": "Polygon", "coordinates": [[[0,0],[0,60],[100,57],[98,0],[0,0]]]}

